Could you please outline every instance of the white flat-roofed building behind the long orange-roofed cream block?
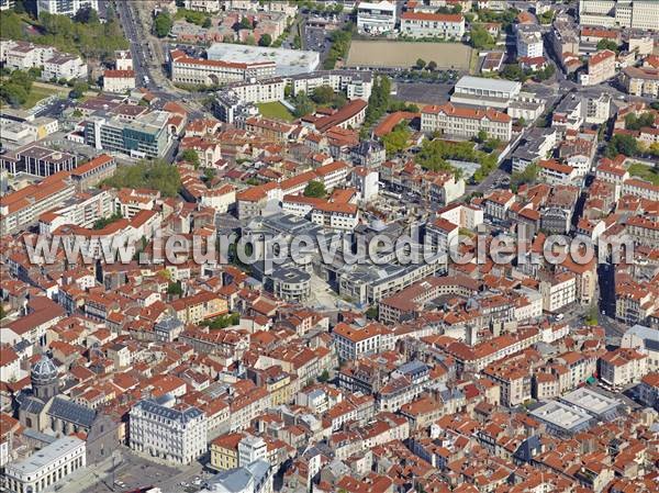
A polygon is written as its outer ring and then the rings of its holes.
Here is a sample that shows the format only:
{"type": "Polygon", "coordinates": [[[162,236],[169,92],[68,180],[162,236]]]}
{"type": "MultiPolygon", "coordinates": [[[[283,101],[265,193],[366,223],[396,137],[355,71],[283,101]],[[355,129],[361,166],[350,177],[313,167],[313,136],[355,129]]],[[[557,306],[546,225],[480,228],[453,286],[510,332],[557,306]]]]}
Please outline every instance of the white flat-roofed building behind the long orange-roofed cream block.
{"type": "Polygon", "coordinates": [[[521,82],[465,76],[456,83],[450,101],[505,109],[520,94],[521,90],[521,82]]]}

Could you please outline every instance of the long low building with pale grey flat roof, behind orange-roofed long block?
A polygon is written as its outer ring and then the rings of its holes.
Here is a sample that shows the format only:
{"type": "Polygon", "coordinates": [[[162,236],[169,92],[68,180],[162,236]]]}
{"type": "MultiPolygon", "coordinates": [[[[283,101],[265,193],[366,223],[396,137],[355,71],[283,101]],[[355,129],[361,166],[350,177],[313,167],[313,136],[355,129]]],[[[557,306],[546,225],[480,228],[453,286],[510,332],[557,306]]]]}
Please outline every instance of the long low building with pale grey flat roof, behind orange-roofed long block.
{"type": "Polygon", "coordinates": [[[317,52],[234,45],[231,43],[215,43],[209,47],[206,53],[209,61],[250,65],[273,64],[275,70],[269,76],[279,77],[311,72],[321,63],[317,52]]]}

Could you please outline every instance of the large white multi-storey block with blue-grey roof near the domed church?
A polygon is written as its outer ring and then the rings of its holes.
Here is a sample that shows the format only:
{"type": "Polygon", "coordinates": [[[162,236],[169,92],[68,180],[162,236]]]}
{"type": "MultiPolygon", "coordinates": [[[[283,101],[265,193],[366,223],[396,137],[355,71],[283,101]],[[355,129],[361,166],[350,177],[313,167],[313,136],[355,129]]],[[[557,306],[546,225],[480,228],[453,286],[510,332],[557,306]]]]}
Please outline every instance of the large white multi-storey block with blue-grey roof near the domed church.
{"type": "Polygon", "coordinates": [[[206,451],[205,415],[197,407],[143,400],[133,406],[129,440],[133,450],[187,466],[206,451]]]}

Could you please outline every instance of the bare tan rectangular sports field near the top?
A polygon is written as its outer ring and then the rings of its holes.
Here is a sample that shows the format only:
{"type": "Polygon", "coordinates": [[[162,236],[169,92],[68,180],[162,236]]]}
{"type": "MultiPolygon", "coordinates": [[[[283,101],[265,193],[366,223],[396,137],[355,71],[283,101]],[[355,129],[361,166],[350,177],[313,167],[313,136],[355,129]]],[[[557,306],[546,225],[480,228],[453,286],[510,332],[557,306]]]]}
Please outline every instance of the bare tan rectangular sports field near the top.
{"type": "Polygon", "coordinates": [[[471,47],[461,43],[415,43],[355,40],[350,45],[349,67],[410,68],[422,58],[435,61],[439,70],[469,70],[471,47]]]}

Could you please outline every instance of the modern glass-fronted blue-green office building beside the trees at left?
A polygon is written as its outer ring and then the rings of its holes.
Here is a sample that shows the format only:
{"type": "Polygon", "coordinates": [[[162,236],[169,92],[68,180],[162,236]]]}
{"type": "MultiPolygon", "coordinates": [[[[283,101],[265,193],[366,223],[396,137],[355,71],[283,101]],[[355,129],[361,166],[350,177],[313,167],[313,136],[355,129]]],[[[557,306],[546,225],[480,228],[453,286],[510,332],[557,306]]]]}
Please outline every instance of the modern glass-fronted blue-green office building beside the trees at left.
{"type": "Polygon", "coordinates": [[[90,116],[85,127],[85,142],[100,150],[122,153],[136,158],[163,157],[170,145],[167,122],[169,113],[154,111],[138,120],[90,116]]]}

